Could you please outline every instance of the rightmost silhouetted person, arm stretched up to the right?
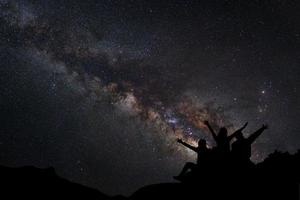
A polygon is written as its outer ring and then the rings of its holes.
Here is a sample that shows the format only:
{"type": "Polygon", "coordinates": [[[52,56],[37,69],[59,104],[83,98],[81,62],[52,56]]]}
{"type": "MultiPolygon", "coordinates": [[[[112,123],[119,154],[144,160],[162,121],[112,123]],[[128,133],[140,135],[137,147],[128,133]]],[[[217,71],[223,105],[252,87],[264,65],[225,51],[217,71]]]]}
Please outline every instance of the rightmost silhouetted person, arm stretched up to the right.
{"type": "Polygon", "coordinates": [[[252,133],[249,137],[245,138],[242,131],[235,134],[236,141],[232,143],[232,156],[235,162],[241,164],[251,164],[251,145],[264,130],[268,128],[267,125],[262,125],[260,129],[252,133]]]}

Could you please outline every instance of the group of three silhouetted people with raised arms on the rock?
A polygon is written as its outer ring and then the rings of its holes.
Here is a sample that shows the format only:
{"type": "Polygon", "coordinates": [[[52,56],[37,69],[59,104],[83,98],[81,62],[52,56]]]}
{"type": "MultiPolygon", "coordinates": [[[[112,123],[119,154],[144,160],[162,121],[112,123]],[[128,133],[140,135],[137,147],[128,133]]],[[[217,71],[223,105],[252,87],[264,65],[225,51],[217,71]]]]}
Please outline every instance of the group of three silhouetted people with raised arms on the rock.
{"type": "Polygon", "coordinates": [[[242,131],[248,125],[248,122],[244,124],[243,127],[236,130],[233,134],[228,135],[227,129],[225,127],[220,128],[219,133],[216,134],[213,128],[210,126],[208,121],[204,121],[204,124],[210,130],[215,142],[216,146],[212,149],[207,147],[206,140],[200,139],[198,141],[198,146],[194,147],[188,143],[182,141],[182,139],[177,139],[177,142],[183,144],[189,149],[195,151],[197,153],[197,164],[188,162],[184,166],[183,170],[178,176],[175,176],[175,179],[181,179],[188,170],[194,170],[199,168],[200,166],[209,166],[212,163],[216,163],[218,161],[232,161],[234,163],[248,165],[251,163],[251,144],[255,141],[255,139],[268,128],[267,125],[262,125],[257,131],[252,133],[248,137],[244,137],[242,131]],[[236,140],[232,143],[230,149],[230,143],[232,139],[236,140]]]}

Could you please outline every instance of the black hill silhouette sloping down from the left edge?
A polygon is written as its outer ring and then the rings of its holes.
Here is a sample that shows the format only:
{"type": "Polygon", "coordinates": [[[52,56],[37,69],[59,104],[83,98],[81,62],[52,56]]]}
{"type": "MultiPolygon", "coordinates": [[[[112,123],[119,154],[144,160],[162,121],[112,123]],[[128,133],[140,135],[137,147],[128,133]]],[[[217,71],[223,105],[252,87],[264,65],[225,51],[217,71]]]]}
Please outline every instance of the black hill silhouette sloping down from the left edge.
{"type": "Polygon", "coordinates": [[[54,168],[0,166],[0,186],[1,199],[122,199],[60,178],[54,168]]]}

